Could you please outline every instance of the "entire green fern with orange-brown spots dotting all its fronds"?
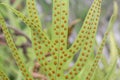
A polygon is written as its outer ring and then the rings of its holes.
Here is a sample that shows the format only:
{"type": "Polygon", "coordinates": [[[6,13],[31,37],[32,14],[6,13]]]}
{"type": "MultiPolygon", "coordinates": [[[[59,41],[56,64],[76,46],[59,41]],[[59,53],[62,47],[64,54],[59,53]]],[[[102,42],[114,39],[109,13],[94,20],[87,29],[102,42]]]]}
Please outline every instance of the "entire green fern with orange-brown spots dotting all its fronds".
{"type": "MultiPolygon", "coordinates": [[[[114,14],[111,17],[110,25],[98,48],[96,56],[91,61],[91,55],[94,53],[95,36],[101,12],[102,0],[94,0],[88,14],[86,15],[81,30],[70,48],[67,47],[69,0],[53,0],[52,27],[50,28],[51,37],[42,30],[42,25],[37,15],[38,12],[35,8],[35,1],[27,0],[26,3],[28,16],[23,15],[21,12],[4,3],[1,3],[0,5],[9,8],[30,27],[32,47],[37,60],[41,65],[40,70],[42,73],[45,74],[49,80],[93,80],[98,62],[102,58],[102,50],[105,41],[112,27],[111,23],[114,23],[117,16],[117,4],[115,3],[114,14]],[[72,59],[77,52],[80,53],[77,61],[68,70],[68,65],[72,62],[72,59]],[[46,57],[48,53],[50,55],[46,57]]],[[[33,80],[23,58],[19,55],[2,15],[0,15],[0,24],[8,46],[12,51],[12,55],[24,75],[24,79],[33,80]]],[[[112,73],[112,70],[110,73],[112,73]]],[[[8,80],[2,71],[0,75],[3,80],[4,78],[8,80]]],[[[108,76],[109,75],[110,74],[108,74],[108,76]]],[[[105,80],[108,79],[108,76],[105,80]]]]}

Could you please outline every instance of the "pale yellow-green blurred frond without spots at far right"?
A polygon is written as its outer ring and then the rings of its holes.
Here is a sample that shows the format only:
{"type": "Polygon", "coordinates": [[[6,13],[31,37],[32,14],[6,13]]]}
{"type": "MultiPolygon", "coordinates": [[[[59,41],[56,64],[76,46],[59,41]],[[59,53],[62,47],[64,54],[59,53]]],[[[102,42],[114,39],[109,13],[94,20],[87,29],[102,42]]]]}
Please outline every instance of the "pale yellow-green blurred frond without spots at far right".
{"type": "Polygon", "coordinates": [[[103,80],[109,80],[111,78],[111,75],[113,73],[115,73],[115,69],[116,69],[116,64],[117,64],[117,59],[118,59],[118,50],[116,48],[115,45],[115,40],[114,40],[114,36],[113,36],[113,32],[110,32],[110,64],[108,67],[108,71],[107,71],[107,75],[105,76],[105,78],[103,80]]]}

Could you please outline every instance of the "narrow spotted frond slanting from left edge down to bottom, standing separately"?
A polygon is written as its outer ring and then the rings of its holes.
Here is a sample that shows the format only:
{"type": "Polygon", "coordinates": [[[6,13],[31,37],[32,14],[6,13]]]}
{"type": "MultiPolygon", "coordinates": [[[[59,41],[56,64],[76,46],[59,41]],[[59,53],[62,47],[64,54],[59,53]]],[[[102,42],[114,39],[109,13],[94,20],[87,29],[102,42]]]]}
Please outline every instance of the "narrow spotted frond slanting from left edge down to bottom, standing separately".
{"type": "Polygon", "coordinates": [[[4,18],[2,17],[2,15],[0,14],[0,25],[2,26],[2,30],[3,33],[5,35],[5,39],[7,41],[8,46],[11,49],[12,55],[19,67],[19,69],[21,70],[22,74],[24,75],[26,80],[33,80],[33,78],[31,77],[31,75],[29,74],[24,61],[22,60],[22,57],[19,55],[19,52],[14,44],[14,41],[11,37],[11,34],[9,33],[9,30],[6,26],[6,23],[4,21],[4,18]]]}

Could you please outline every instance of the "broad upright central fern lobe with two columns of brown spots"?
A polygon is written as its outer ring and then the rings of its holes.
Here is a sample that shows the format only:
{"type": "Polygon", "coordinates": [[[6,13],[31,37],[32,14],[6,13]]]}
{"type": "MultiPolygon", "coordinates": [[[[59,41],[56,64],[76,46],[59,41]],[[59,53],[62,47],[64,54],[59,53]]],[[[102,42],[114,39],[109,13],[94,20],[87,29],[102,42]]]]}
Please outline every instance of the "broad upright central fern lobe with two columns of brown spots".
{"type": "Polygon", "coordinates": [[[58,49],[54,57],[56,65],[56,80],[63,79],[64,75],[61,70],[63,52],[67,49],[67,36],[68,36],[68,10],[69,0],[53,0],[53,17],[52,17],[52,42],[58,49]]]}

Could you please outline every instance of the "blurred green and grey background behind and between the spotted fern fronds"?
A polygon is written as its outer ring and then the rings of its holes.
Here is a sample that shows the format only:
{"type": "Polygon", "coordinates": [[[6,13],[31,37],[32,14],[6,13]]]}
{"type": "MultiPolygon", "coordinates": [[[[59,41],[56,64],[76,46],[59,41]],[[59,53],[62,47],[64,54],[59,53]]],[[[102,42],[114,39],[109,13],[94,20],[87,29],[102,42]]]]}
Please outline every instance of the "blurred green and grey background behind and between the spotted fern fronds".
{"type": "MultiPolygon", "coordinates": [[[[47,32],[47,30],[51,27],[52,20],[52,0],[35,0],[36,7],[39,12],[39,17],[42,22],[43,29],[47,32]]],[[[113,1],[114,0],[103,0],[101,17],[99,22],[99,28],[96,35],[96,47],[100,44],[106,28],[108,26],[108,22],[113,12],[113,1]]],[[[116,0],[118,5],[120,4],[120,0],[116,0]]],[[[7,3],[17,10],[21,11],[25,15],[27,15],[26,11],[26,0],[0,0],[0,2],[7,3]]],[[[79,32],[81,25],[84,21],[84,18],[88,12],[89,7],[91,6],[93,0],[70,0],[70,9],[69,9],[69,44],[71,45],[79,32]]],[[[38,66],[35,54],[32,50],[31,45],[31,32],[30,29],[20,20],[16,15],[14,15],[10,10],[6,9],[3,6],[0,6],[0,12],[4,16],[7,26],[13,35],[16,46],[21,53],[20,55],[24,58],[27,67],[29,67],[29,71],[31,73],[39,72],[40,65],[38,66]],[[37,67],[36,67],[37,66],[37,67]],[[38,70],[37,70],[37,69],[38,70]]],[[[112,29],[112,40],[114,40],[114,44],[110,45],[111,38],[108,37],[106,42],[106,46],[103,50],[103,61],[100,63],[100,74],[101,76],[105,76],[108,69],[107,67],[111,62],[111,46],[115,46],[118,54],[118,59],[116,63],[116,70],[114,74],[111,76],[110,80],[120,80],[120,5],[119,5],[119,13],[118,18],[114,24],[112,29]]],[[[49,33],[49,32],[47,32],[49,33]]],[[[50,36],[48,34],[48,36],[50,36]]],[[[96,48],[95,48],[96,49],[96,48]]],[[[113,52],[114,53],[114,52],[113,52]]],[[[22,80],[23,77],[16,66],[16,63],[11,55],[9,47],[5,42],[4,35],[0,26],[0,68],[4,70],[4,72],[9,76],[10,80],[22,80]]],[[[39,72],[40,75],[42,75],[39,72]]],[[[101,79],[101,76],[96,75],[101,79]]],[[[38,79],[40,80],[40,79],[38,79]]]]}

